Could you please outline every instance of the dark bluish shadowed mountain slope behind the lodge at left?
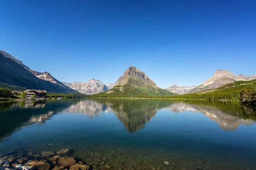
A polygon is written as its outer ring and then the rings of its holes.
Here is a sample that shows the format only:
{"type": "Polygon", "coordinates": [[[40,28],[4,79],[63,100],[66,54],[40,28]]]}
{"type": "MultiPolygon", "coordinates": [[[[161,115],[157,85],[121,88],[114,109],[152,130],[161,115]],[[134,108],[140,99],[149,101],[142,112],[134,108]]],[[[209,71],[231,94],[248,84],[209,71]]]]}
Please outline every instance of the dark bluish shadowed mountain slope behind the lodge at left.
{"type": "MultiPolygon", "coordinates": [[[[44,72],[46,73],[46,72],[44,72]]],[[[77,92],[58,80],[49,82],[36,77],[37,71],[32,71],[22,61],[12,57],[10,54],[0,51],[0,85],[8,88],[41,89],[51,93],[73,93],[77,92]],[[31,72],[34,72],[33,74],[31,72]]],[[[50,74],[49,74],[50,75],[50,74]]]]}

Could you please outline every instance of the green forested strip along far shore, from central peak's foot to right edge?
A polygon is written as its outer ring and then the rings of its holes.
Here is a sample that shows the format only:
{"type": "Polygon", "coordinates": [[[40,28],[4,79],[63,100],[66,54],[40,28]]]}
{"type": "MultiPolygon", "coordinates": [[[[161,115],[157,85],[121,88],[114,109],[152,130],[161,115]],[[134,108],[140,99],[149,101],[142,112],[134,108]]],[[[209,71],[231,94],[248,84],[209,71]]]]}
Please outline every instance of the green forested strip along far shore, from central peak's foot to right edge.
{"type": "MultiPolygon", "coordinates": [[[[134,90],[134,89],[133,89],[134,90]]],[[[99,93],[89,96],[90,98],[163,98],[163,99],[198,99],[198,100],[234,100],[243,104],[256,105],[256,80],[237,81],[212,91],[203,91],[194,94],[183,94],[176,96],[147,96],[140,91],[124,90],[118,91],[113,89],[112,93],[99,93]]]]}

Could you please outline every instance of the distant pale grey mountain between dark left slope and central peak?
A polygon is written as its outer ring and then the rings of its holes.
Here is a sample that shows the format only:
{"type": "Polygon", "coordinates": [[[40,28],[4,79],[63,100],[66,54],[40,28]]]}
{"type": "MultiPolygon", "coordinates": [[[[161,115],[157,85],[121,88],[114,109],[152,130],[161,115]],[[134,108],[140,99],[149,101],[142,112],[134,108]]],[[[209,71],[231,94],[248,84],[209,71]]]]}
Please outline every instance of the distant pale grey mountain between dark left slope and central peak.
{"type": "Polygon", "coordinates": [[[90,79],[87,82],[62,83],[83,94],[96,94],[103,91],[107,91],[113,87],[113,84],[104,85],[101,81],[97,79],[90,79]]]}

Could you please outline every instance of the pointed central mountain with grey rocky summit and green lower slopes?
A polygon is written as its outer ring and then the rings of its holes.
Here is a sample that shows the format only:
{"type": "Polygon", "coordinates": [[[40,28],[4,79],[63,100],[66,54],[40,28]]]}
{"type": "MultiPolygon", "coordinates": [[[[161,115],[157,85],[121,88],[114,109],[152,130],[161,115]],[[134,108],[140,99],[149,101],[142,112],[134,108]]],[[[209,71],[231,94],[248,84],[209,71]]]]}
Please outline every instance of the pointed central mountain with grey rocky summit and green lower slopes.
{"type": "Polygon", "coordinates": [[[125,73],[119,77],[114,87],[106,92],[95,96],[171,96],[173,93],[156,86],[144,72],[129,67],[125,73]]]}

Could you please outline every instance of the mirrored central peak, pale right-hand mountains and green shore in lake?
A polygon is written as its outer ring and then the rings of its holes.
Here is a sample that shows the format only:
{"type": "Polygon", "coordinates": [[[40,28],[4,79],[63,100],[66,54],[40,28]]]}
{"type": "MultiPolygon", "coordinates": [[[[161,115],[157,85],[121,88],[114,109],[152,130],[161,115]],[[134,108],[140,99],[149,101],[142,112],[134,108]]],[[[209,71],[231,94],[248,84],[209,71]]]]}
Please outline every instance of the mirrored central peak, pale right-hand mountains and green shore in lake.
{"type": "Polygon", "coordinates": [[[223,130],[235,130],[240,125],[252,125],[256,119],[256,109],[237,102],[207,101],[166,101],[147,99],[97,99],[98,102],[110,106],[119,121],[129,132],[145,128],[145,123],[155,116],[161,108],[180,113],[192,111],[204,113],[223,130]]]}

